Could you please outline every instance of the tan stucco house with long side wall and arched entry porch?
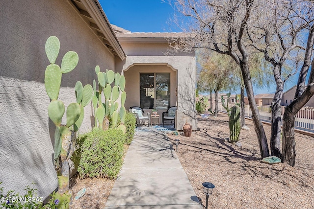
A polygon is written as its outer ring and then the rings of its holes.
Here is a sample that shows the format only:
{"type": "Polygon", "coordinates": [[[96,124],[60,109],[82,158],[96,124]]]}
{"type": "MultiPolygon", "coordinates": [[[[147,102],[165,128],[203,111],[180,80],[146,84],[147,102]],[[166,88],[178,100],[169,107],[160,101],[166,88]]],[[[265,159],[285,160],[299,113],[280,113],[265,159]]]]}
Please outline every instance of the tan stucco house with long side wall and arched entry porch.
{"type": "MultiPolygon", "coordinates": [[[[49,64],[44,46],[51,35],[61,44],[56,63],[69,50],[79,56],[76,69],[62,77],[59,99],[66,107],[75,101],[76,81],[92,84],[99,65],[102,71],[125,75],[127,109],[159,107],[161,114],[177,106],[176,128],[181,130],[185,122],[197,128],[195,53],[164,53],[169,39],[180,33],[131,33],[111,25],[98,0],[1,1],[0,16],[0,182],[4,191],[23,193],[34,182],[38,196],[47,197],[57,187],[52,163],[54,125],[48,118],[50,99],[44,86],[49,64]]],[[[89,106],[80,131],[91,129],[92,120],[89,106]]]]}

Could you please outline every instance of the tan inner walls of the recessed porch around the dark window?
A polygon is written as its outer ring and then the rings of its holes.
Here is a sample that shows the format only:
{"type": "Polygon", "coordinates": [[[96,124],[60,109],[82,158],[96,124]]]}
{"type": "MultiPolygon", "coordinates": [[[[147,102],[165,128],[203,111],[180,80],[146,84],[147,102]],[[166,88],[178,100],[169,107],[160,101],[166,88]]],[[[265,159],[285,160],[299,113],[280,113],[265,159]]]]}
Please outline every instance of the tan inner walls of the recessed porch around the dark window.
{"type": "MultiPolygon", "coordinates": [[[[126,93],[127,100],[125,107],[127,110],[131,106],[140,106],[140,73],[157,73],[157,72],[169,72],[170,73],[170,106],[176,106],[177,96],[177,72],[165,65],[136,65],[124,72],[126,77],[126,93]]],[[[152,111],[152,109],[145,110],[146,112],[152,111]]],[[[159,122],[161,123],[162,112],[165,110],[158,110],[160,115],[159,122]]]]}

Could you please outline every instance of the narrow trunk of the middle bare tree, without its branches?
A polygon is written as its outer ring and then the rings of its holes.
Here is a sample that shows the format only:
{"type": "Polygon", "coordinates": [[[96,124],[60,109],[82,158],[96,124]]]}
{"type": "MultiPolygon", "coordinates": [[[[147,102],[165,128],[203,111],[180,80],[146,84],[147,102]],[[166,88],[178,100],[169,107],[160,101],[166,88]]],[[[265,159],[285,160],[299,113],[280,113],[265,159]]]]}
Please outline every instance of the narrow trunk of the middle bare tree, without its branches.
{"type": "Polygon", "coordinates": [[[274,68],[276,80],[276,93],[271,102],[271,134],[270,134],[270,151],[271,155],[281,158],[280,138],[281,138],[281,100],[284,93],[284,82],[281,79],[280,66],[274,68]]]}

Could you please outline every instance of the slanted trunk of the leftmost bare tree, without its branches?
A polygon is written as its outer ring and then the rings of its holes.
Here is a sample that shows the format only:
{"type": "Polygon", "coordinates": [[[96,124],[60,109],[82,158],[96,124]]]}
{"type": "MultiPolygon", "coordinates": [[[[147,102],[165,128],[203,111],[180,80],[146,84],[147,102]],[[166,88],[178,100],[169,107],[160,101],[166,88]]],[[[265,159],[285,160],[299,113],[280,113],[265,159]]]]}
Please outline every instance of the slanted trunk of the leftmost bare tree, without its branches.
{"type": "Polygon", "coordinates": [[[267,138],[266,138],[265,131],[262,125],[260,113],[256,106],[256,102],[254,98],[251,74],[250,74],[247,64],[241,62],[240,67],[241,67],[242,77],[243,77],[243,81],[244,81],[244,85],[245,85],[245,89],[247,93],[247,98],[249,100],[249,105],[252,111],[252,120],[254,123],[254,129],[257,134],[257,138],[259,140],[261,156],[262,158],[265,158],[269,156],[269,149],[268,149],[267,138]]]}

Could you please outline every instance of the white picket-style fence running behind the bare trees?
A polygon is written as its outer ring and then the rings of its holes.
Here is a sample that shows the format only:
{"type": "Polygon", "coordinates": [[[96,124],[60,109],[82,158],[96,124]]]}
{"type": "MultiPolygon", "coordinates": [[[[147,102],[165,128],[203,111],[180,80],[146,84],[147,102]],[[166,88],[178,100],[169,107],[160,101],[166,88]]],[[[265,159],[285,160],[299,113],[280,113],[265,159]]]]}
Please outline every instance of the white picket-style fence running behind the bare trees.
{"type": "MultiPolygon", "coordinates": [[[[214,104],[213,104],[214,105],[214,104]]],[[[234,104],[229,103],[229,108],[234,104]]],[[[271,122],[271,109],[270,105],[258,105],[262,121],[271,122]]],[[[221,102],[218,102],[218,111],[227,113],[221,102]]],[[[281,123],[285,112],[285,106],[281,106],[281,123]]],[[[252,118],[250,106],[245,104],[245,117],[252,118]]],[[[295,116],[295,128],[314,132],[314,108],[304,107],[295,116]]]]}

